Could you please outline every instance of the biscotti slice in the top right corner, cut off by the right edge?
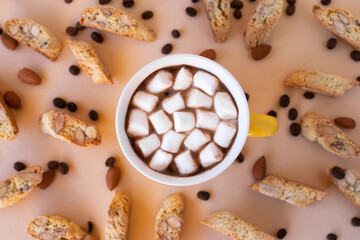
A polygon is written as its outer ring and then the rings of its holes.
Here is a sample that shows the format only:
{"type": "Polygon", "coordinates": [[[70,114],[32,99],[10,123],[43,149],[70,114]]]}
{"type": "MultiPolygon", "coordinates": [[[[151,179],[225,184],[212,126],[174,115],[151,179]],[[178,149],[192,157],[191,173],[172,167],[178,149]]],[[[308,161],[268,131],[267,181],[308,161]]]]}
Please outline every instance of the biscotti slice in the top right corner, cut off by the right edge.
{"type": "Polygon", "coordinates": [[[354,49],[360,50],[360,21],[347,10],[314,5],[318,22],[354,49]]]}

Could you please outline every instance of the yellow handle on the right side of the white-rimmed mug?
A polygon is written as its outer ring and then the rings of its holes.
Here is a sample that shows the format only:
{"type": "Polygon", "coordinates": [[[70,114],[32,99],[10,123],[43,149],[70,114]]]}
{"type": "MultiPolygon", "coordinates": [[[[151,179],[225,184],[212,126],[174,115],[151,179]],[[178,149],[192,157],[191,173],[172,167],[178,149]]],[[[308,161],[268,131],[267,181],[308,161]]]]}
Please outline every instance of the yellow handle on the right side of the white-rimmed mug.
{"type": "Polygon", "coordinates": [[[269,115],[250,114],[249,137],[270,137],[278,130],[278,121],[269,115]]]}

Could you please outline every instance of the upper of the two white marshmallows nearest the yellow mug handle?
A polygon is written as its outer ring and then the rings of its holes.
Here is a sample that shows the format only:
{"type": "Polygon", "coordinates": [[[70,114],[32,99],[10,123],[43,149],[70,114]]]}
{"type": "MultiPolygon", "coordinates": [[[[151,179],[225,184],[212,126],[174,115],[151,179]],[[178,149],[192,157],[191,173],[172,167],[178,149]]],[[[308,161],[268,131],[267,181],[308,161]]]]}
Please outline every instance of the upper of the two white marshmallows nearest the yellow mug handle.
{"type": "Polygon", "coordinates": [[[237,117],[236,107],[227,92],[216,93],[214,107],[221,119],[235,119],[237,117]]]}

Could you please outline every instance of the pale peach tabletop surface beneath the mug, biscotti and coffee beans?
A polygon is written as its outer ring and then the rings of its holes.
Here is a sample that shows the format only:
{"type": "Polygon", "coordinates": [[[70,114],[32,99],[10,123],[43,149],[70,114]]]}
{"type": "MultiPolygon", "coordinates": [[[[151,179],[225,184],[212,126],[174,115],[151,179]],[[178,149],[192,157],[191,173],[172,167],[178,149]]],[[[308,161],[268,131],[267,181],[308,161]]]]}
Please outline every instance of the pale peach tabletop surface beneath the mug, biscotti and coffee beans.
{"type": "MultiPolygon", "coordinates": [[[[359,210],[331,185],[325,169],[331,164],[340,164],[360,170],[359,160],[343,160],[302,136],[292,137],[287,114],[290,107],[295,107],[299,111],[296,121],[308,111],[319,111],[329,118],[349,116],[360,119],[360,87],[338,99],[316,95],[315,99],[306,100],[303,91],[283,87],[280,82],[298,69],[356,78],[360,75],[359,63],[350,59],[352,49],[341,41],[334,50],[326,49],[326,41],[332,34],[312,16],[311,7],[319,2],[317,0],[298,1],[294,16],[283,15],[269,40],[273,47],[271,54],[262,61],[253,61],[242,34],[257,3],[243,2],[243,17],[231,19],[231,33],[225,43],[215,43],[201,4],[193,4],[190,0],[137,0],[135,7],[128,10],[136,16],[145,10],[154,11],[154,18],[147,23],[157,32],[155,42],[103,33],[105,41],[98,44],[90,39],[90,29],[81,31],[75,39],[88,40],[95,45],[115,80],[111,86],[93,84],[84,72],[72,76],[68,71],[70,65],[77,63],[65,44],[65,29],[76,23],[82,9],[97,5],[97,0],[74,0],[71,4],[62,0],[2,0],[1,24],[9,18],[33,19],[51,29],[62,40],[64,49],[53,63],[28,47],[19,46],[16,51],[10,51],[0,45],[1,92],[13,89],[23,100],[22,109],[11,110],[19,125],[19,136],[13,142],[0,142],[0,177],[6,179],[16,173],[13,169],[15,161],[45,167],[49,160],[56,159],[68,162],[70,172],[65,176],[57,174],[46,190],[36,189],[20,203],[1,209],[0,239],[30,239],[26,235],[27,223],[40,214],[62,215],[84,229],[87,229],[87,221],[92,221],[94,235],[104,239],[107,208],[113,196],[105,185],[107,167],[104,161],[112,155],[116,156],[121,168],[118,189],[132,200],[129,239],[151,239],[155,216],[163,199],[179,191],[186,199],[184,240],[228,239],[199,223],[209,213],[218,210],[229,210],[272,235],[284,227],[288,230],[286,239],[326,239],[329,232],[338,234],[340,239],[357,239],[360,229],[353,227],[350,220],[360,215],[359,210]],[[187,6],[199,10],[195,18],[185,14],[187,6]],[[179,39],[171,37],[171,30],[175,28],[181,31],[179,39]],[[243,150],[244,163],[234,163],[215,179],[192,187],[170,187],[145,178],[124,158],[116,140],[115,109],[122,89],[137,70],[162,56],[160,49],[167,42],[174,45],[172,53],[198,54],[207,48],[215,49],[217,62],[226,67],[250,94],[250,111],[266,114],[274,109],[278,112],[279,131],[276,136],[249,139],[243,150]],[[38,72],[42,84],[29,86],[20,82],[16,75],[23,67],[38,72]],[[278,100],[284,93],[290,96],[291,103],[290,107],[280,109],[278,100]],[[87,114],[90,109],[99,112],[97,124],[103,136],[101,146],[80,148],[41,133],[39,117],[53,108],[52,99],[58,96],[77,103],[78,110],[73,115],[80,119],[89,121],[87,114]],[[327,190],[331,195],[306,208],[296,208],[250,191],[248,186],[254,183],[251,169],[262,155],[267,158],[268,172],[327,190]],[[197,199],[199,190],[209,191],[210,200],[197,199]]],[[[113,0],[111,5],[122,8],[120,0],[113,0]]],[[[347,8],[360,15],[360,3],[355,0],[333,0],[331,6],[347,8]]],[[[360,142],[359,127],[346,133],[360,142]]]]}

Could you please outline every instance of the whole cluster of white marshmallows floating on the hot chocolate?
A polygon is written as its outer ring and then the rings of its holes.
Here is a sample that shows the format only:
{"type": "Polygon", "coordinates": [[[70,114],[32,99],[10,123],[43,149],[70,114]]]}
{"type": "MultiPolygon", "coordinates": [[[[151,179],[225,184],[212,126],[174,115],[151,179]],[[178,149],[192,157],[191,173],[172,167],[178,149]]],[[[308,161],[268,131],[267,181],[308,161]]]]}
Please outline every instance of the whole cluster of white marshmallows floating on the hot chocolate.
{"type": "Polygon", "coordinates": [[[132,105],[136,107],[130,109],[127,133],[137,138],[135,144],[144,158],[156,151],[149,162],[152,169],[164,171],[174,159],[179,174],[189,175],[223,159],[237,131],[237,108],[228,92],[216,92],[218,86],[215,76],[201,70],[193,75],[182,67],[175,82],[169,71],[160,70],[147,82],[148,92],[135,93],[132,105]],[[171,87],[175,93],[158,104],[161,99],[153,94],[171,87]]]}

